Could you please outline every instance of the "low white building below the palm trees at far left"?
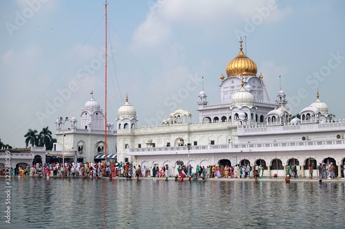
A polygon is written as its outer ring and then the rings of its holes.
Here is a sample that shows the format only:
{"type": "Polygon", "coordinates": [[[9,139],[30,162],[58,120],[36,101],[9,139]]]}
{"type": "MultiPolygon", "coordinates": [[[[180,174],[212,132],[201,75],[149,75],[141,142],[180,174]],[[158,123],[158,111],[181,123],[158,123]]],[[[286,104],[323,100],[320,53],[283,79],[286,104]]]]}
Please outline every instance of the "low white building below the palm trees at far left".
{"type": "Polygon", "coordinates": [[[46,146],[30,146],[30,148],[24,149],[0,149],[0,168],[6,165],[6,160],[10,161],[12,168],[19,166],[26,168],[26,166],[42,162],[44,164],[46,162],[46,146]],[[10,151],[10,157],[6,156],[6,151],[10,151]]]}

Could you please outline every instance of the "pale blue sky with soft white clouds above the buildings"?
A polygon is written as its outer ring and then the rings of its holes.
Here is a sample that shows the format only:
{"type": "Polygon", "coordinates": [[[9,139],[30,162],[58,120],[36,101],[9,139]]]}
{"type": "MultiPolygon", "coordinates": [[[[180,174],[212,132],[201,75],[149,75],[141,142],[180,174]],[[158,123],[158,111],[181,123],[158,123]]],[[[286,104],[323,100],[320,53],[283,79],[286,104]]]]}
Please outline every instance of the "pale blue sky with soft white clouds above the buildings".
{"type": "MultiPolygon", "coordinates": [[[[23,147],[28,129],[75,116],[90,91],[105,104],[105,1],[0,1],[0,138],[23,147]]],[[[239,52],[282,89],[295,115],[319,98],[345,118],[345,1],[108,0],[107,119],[128,102],[140,127],[197,96],[220,101],[220,76],[239,52]]],[[[116,124],[115,124],[116,127],[116,124]]]]}

